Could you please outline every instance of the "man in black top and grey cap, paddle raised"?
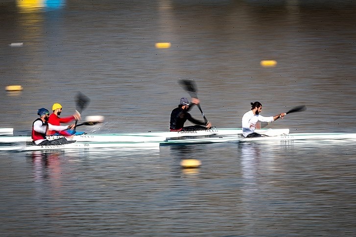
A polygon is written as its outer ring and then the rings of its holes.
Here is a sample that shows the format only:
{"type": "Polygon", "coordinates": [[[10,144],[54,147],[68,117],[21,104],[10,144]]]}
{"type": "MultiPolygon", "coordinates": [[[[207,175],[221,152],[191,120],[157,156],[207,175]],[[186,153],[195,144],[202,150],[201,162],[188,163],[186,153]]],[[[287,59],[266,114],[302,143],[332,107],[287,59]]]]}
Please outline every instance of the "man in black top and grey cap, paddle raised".
{"type": "Polygon", "coordinates": [[[170,127],[171,132],[176,131],[191,131],[191,130],[207,130],[212,127],[211,122],[202,122],[197,119],[193,119],[188,113],[194,104],[199,104],[200,100],[197,98],[191,98],[191,105],[186,97],[181,98],[181,101],[177,108],[172,110],[170,114],[170,127]],[[184,127],[184,123],[189,120],[197,125],[184,127]]]}

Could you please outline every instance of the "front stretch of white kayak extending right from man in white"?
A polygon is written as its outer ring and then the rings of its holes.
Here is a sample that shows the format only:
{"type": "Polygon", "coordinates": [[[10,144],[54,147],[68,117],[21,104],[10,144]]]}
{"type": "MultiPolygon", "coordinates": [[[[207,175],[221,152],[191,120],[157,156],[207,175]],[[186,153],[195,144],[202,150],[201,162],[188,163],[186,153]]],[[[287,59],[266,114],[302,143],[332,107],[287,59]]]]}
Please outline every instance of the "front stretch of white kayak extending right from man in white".
{"type": "Polygon", "coordinates": [[[290,133],[272,137],[241,138],[239,142],[356,140],[356,133],[290,133]]]}

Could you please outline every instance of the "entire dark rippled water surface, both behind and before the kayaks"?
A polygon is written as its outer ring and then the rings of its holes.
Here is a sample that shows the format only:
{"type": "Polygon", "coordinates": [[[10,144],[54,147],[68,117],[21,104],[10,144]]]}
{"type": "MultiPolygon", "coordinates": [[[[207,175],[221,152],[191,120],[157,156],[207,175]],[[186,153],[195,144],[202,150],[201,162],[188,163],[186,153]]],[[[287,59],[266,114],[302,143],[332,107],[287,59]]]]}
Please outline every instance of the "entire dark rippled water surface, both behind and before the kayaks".
{"type": "MultiPolygon", "coordinates": [[[[30,2],[0,1],[0,127],[26,133],[55,102],[70,115],[80,91],[82,116],[105,116],[85,132],[165,131],[190,77],[217,127],[259,100],[264,115],[307,105],[273,128],[356,132],[352,1],[30,2]]],[[[354,142],[2,152],[0,234],[355,236],[355,155],[354,142]]]]}

